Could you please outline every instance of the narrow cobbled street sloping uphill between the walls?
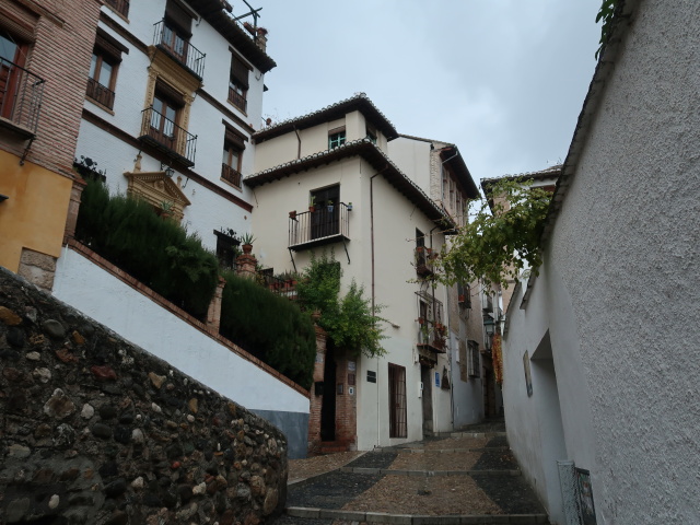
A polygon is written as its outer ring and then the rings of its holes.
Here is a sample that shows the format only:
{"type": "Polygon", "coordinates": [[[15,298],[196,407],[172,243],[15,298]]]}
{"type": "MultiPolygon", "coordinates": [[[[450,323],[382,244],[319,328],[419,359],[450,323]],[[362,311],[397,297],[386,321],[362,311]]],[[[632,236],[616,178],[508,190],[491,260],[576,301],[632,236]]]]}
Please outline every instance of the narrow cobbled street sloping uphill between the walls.
{"type": "Polygon", "coordinates": [[[368,453],[290,462],[276,525],[549,523],[502,422],[368,453]]]}

